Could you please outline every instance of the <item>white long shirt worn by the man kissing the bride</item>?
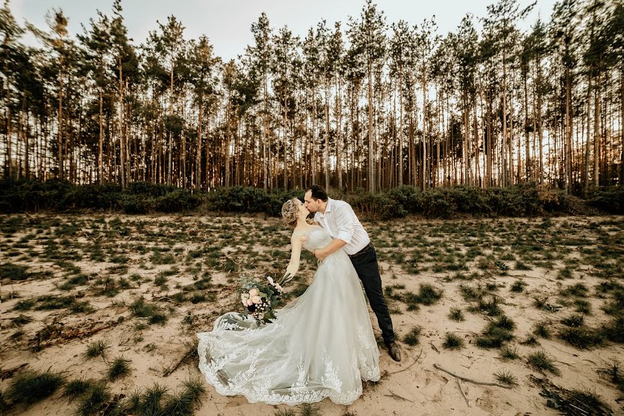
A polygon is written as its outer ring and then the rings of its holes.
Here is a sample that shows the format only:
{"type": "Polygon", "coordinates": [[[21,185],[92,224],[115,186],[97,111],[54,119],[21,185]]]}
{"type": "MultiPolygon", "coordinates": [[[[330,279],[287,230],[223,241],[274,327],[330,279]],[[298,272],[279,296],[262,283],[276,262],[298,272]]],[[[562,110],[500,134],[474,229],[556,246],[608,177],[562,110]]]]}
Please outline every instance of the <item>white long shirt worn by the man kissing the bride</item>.
{"type": "Polygon", "coordinates": [[[317,212],[314,220],[327,230],[332,239],[347,243],[343,248],[347,254],[356,254],[370,243],[368,233],[351,205],[345,201],[327,198],[325,213],[317,212]]]}

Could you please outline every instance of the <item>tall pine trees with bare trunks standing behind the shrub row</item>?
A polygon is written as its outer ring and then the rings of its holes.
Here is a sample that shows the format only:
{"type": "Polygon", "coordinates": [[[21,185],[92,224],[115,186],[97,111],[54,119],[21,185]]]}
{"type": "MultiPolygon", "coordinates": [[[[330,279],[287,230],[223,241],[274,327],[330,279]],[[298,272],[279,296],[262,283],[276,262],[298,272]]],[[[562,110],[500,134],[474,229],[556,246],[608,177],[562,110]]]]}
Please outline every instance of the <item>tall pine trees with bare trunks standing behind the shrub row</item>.
{"type": "Polygon", "coordinates": [[[130,40],[120,0],[69,33],[0,10],[3,177],[371,192],[624,179],[623,1],[500,0],[455,31],[368,0],[298,36],[264,13],[223,62],[175,16],[130,40]],[[357,10],[354,10],[357,12],[357,10]],[[478,23],[478,24],[477,24],[478,23]],[[478,30],[480,28],[480,30],[478,30]],[[42,46],[27,46],[30,31],[42,46]]]}

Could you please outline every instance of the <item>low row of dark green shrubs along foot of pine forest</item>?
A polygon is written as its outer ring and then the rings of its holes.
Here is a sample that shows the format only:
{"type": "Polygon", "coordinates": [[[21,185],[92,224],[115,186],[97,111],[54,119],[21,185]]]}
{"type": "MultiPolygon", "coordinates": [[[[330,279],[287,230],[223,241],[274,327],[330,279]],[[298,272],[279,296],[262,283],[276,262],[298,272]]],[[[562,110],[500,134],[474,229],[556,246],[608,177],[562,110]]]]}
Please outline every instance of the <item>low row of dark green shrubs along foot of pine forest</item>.
{"type": "MultiPolygon", "coordinates": [[[[401,218],[407,214],[429,218],[451,218],[458,214],[533,216],[569,209],[568,199],[562,191],[547,189],[534,182],[506,188],[483,189],[460,185],[424,191],[406,185],[379,193],[358,188],[345,195],[330,189],[329,194],[349,202],[358,214],[383,219],[401,218]]],[[[600,209],[621,212],[623,195],[619,187],[594,189],[590,202],[600,209]]],[[[209,211],[279,216],[281,205],[286,200],[303,196],[303,189],[266,190],[237,186],[191,193],[186,189],[150,182],[131,182],[122,189],[114,183],[74,185],[64,180],[0,180],[0,212],[5,213],[40,209],[171,213],[195,209],[203,202],[203,209],[209,211]]]]}

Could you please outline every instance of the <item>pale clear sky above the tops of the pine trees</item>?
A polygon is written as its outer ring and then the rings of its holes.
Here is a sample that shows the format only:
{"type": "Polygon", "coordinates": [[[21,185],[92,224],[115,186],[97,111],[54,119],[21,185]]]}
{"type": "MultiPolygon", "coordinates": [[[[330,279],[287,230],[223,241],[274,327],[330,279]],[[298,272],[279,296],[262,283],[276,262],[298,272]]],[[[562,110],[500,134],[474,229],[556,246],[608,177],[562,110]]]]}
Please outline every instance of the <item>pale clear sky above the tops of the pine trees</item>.
{"type": "MultiPolygon", "coordinates": [[[[82,33],[80,26],[88,26],[89,18],[96,18],[96,10],[112,14],[113,0],[10,0],[10,9],[19,23],[29,21],[37,28],[46,28],[45,15],[52,8],[60,8],[69,18],[70,33],[82,33]]],[[[471,13],[485,17],[487,5],[494,0],[378,0],[379,10],[384,12],[386,22],[392,24],[404,19],[410,25],[435,15],[438,32],[445,35],[455,31],[461,19],[471,13]]],[[[521,7],[530,0],[519,0],[521,7]]],[[[526,21],[519,26],[528,30],[538,15],[548,20],[555,0],[537,0],[537,5],[526,21]]],[[[349,16],[359,17],[365,0],[122,0],[123,16],[128,34],[135,44],[144,42],[150,31],[165,23],[169,15],[175,15],[185,26],[184,37],[197,39],[207,35],[216,55],[223,60],[236,59],[253,43],[250,31],[252,23],[266,12],[275,31],[285,25],[293,34],[304,37],[309,28],[325,19],[333,28],[336,21],[346,27],[349,16]]],[[[476,26],[480,26],[476,22],[476,26]]],[[[26,44],[36,44],[33,35],[26,35],[26,44]]]]}

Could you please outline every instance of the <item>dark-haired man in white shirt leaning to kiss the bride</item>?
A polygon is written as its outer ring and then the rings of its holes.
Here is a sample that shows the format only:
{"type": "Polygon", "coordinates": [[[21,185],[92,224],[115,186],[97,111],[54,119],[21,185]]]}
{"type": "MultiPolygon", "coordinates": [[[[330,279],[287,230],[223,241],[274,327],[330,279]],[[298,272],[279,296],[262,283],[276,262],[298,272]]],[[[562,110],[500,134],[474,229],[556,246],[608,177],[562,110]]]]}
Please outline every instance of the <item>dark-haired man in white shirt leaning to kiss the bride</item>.
{"type": "Polygon", "coordinates": [[[327,192],[319,185],[312,185],[306,189],[304,200],[306,208],[315,213],[314,220],[333,239],[324,248],[315,250],[314,255],[317,259],[323,260],[331,253],[341,248],[345,249],[362,281],[370,307],[377,317],[383,342],[388,347],[388,354],[393,360],[401,361],[401,351],[395,344],[390,312],[381,291],[377,254],[370,243],[368,233],[362,227],[351,205],[345,201],[329,198],[327,192]]]}

